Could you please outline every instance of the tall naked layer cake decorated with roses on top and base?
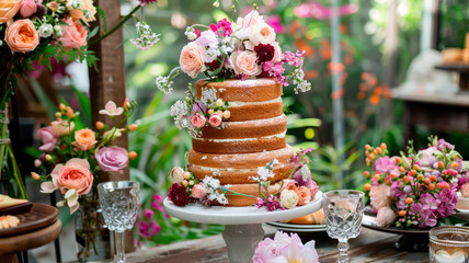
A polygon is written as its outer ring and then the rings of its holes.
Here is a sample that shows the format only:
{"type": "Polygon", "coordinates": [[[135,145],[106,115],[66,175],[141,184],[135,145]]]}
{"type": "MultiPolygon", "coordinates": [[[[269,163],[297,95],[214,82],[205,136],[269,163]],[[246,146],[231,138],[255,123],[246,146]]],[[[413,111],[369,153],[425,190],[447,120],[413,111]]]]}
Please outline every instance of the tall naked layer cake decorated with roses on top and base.
{"type": "Polygon", "coordinates": [[[317,184],[306,165],[310,149],[293,152],[286,144],[283,88],[306,92],[302,52],[282,53],[275,31],[254,10],[236,23],[186,28],[190,43],[180,67],[158,77],[157,87],[172,91],[181,72],[192,78],[185,100],[171,106],[180,129],[192,137],[184,168],[175,167],[168,198],[178,206],[294,208],[314,198],[317,184]],[[198,28],[204,28],[203,32],[198,28]]]}

